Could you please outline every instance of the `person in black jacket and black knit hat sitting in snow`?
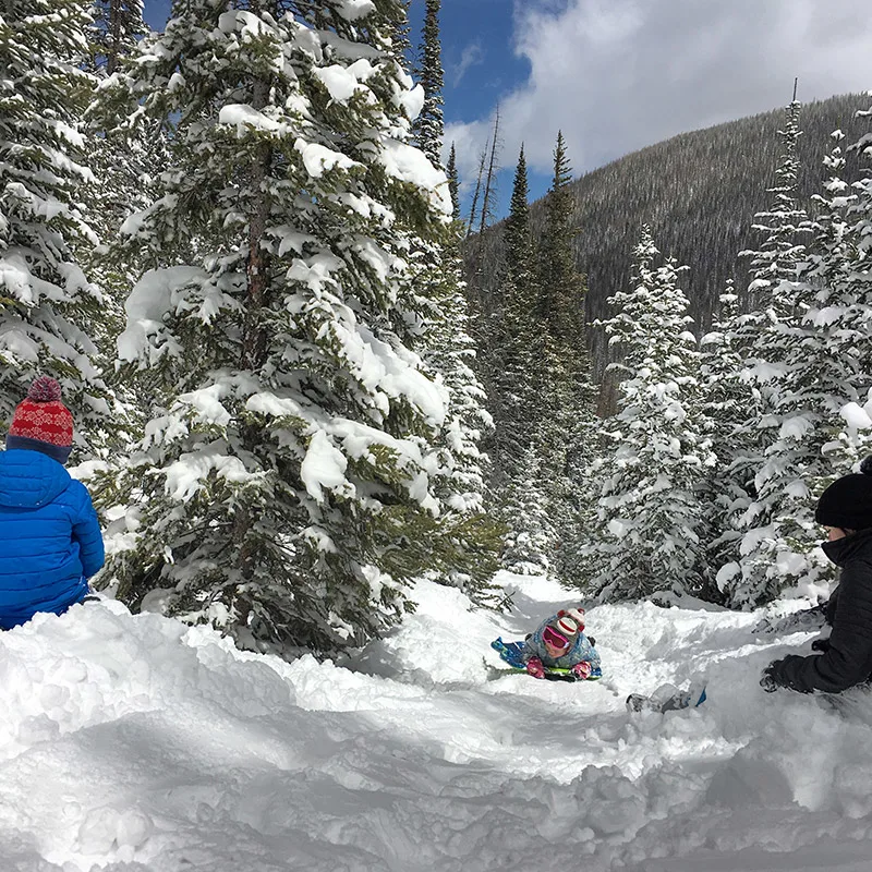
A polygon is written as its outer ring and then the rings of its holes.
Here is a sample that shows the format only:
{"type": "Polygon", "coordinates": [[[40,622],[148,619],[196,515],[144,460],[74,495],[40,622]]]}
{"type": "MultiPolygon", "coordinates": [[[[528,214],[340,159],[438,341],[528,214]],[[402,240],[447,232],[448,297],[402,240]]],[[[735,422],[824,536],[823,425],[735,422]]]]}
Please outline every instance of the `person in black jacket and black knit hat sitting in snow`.
{"type": "Polygon", "coordinates": [[[760,679],[766,691],[840,693],[872,679],[872,457],[824,491],[814,518],[828,531],[824,554],[840,569],[826,609],[833,631],[812,643],[820,653],[771,663],[760,679]]]}

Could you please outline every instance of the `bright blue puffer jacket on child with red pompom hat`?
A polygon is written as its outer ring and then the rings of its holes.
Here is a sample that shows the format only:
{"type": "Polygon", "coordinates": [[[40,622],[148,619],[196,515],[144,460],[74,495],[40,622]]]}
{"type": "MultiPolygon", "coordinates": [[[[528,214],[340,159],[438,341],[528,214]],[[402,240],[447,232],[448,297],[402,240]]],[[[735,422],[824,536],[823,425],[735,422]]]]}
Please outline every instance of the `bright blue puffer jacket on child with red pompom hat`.
{"type": "Polygon", "coordinates": [[[104,562],[85,485],[39,451],[0,452],[0,628],[61,614],[104,562]]]}

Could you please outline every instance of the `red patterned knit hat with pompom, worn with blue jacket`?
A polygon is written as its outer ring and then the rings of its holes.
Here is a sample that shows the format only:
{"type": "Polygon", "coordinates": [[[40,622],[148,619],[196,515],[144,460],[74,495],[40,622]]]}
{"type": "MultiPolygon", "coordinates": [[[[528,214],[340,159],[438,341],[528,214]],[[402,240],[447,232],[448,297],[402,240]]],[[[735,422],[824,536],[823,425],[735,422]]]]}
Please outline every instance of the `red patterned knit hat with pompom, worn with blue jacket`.
{"type": "Polygon", "coordinates": [[[59,463],[65,463],[73,447],[73,416],[61,402],[61,386],[40,375],[20,402],[12,416],[7,448],[41,451],[59,463]]]}

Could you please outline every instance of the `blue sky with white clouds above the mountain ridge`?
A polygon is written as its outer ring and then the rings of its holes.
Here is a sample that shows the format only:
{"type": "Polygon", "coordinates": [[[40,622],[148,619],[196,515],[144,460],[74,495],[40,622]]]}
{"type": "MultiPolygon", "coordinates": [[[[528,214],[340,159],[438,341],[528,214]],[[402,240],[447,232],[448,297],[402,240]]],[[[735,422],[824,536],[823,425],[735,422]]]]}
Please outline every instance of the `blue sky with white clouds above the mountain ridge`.
{"type": "MultiPolygon", "coordinates": [[[[558,129],[576,174],[678,133],[872,89],[869,0],[443,0],[446,147],[463,190],[501,114],[500,214],[521,143],[545,193],[558,129]]],[[[164,26],[168,0],[145,0],[164,26]]],[[[424,0],[412,0],[417,43],[424,0]]],[[[464,214],[468,204],[464,204],[464,214]]]]}

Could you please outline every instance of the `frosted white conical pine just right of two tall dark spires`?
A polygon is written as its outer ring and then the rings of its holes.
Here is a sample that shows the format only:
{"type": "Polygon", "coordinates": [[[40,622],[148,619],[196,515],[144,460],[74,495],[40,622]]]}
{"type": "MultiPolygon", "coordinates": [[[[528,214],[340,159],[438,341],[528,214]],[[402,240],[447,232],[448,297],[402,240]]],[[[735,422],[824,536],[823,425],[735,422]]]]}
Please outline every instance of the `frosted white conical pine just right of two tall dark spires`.
{"type": "Polygon", "coordinates": [[[598,535],[585,549],[589,586],[606,601],[657,591],[698,592],[705,578],[699,500],[715,459],[699,415],[699,351],[688,301],[670,258],[645,227],[634,252],[632,290],[610,298],[601,323],[623,359],[618,413],[605,426],[614,448],[603,462],[598,535]]]}

